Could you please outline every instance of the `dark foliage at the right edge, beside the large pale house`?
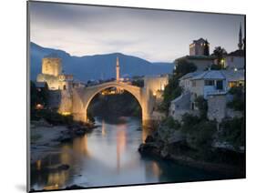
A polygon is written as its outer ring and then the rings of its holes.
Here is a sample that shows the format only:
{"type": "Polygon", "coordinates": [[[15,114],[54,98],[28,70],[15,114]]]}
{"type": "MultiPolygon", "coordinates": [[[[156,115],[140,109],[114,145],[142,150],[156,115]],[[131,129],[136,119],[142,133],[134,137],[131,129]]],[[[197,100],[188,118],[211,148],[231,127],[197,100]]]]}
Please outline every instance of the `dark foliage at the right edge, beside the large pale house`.
{"type": "Polygon", "coordinates": [[[227,104],[227,106],[233,108],[234,110],[244,111],[245,101],[243,87],[231,87],[229,93],[233,96],[233,99],[227,104]]]}

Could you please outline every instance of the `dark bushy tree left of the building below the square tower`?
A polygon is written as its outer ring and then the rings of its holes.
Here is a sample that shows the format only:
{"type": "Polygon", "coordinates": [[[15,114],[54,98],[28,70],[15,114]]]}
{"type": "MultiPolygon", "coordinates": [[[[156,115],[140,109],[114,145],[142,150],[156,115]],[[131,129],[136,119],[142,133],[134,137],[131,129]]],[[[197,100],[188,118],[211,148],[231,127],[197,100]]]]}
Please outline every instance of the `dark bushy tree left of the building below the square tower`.
{"type": "Polygon", "coordinates": [[[177,65],[175,66],[174,73],[179,78],[180,76],[184,76],[196,70],[197,70],[197,66],[195,66],[193,63],[188,62],[185,59],[180,59],[177,61],[177,65]]]}

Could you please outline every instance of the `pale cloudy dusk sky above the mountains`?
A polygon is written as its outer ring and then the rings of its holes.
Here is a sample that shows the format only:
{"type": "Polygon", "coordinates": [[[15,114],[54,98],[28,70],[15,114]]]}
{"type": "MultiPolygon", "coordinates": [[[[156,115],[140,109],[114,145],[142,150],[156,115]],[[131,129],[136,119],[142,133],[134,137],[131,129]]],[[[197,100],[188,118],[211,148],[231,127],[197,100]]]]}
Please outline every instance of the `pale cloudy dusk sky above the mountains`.
{"type": "MultiPolygon", "coordinates": [[[[72,56],[120,52],[151,62],[189,55],[200,37],[228,52],[238,48],[243,15],[218,15],[30,2],[31,41],[72,56]]],[[[243,36],[244,32],[242,31],[243,36]]]]}

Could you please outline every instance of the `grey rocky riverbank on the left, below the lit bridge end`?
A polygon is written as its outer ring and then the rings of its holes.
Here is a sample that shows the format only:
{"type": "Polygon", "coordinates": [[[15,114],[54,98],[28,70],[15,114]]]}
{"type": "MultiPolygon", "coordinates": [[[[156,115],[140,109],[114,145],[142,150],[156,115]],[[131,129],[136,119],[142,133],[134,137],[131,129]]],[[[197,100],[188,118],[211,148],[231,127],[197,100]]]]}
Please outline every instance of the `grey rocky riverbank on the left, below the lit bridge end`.
{"type": "Polygon", "coordinates": [[[94,125],[72,123],[68,126],[49,124],[45,119],[31,121],[30,126],[30,160],[31,164],[56,151],[56,146],[72,141],[74,137],[83,136],[92,131],[94,125]]]}

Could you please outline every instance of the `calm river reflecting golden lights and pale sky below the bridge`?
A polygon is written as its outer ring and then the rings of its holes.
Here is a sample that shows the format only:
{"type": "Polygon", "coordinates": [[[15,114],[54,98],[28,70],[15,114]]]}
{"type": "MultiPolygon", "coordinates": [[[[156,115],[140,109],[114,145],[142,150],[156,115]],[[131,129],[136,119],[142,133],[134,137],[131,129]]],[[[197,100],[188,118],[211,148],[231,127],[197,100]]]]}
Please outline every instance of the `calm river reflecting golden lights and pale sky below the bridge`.
{"type": "Polygon", "coordinates": [[[42,163],[37,163],[31,171],[31,188],[56,189],[74,184],[92,188],[218,178],[169,160],[141,157],[138,146],[148,129],[141,129],[137,117],[118,117],[114,121],[97,117],[96,125],[100,127],[56,147],[44,160],[44,167],[67,164],[67,170],[42,171],[42,163]]]}

